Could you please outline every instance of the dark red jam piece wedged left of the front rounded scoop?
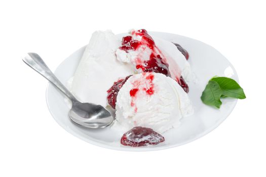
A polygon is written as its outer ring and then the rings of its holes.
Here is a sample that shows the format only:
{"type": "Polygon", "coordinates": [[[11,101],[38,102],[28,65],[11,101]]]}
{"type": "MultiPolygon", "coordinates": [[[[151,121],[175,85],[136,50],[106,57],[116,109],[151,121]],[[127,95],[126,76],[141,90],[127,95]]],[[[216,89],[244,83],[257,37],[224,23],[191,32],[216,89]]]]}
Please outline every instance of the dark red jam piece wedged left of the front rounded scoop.
{"type": "Polygon", "coordinates": [[[128,80],[128,78],[130,76],[132,76],[132,75],[127,76],[125,79],[120,79],[120,80],[116,81],[115,83],[113,83],[113,85],[107,91],[107,100],[108,100],[109,105],[113,109],[116,109],[118,92],[120,91],[120,89],[126,83],[126,81],[128,80]]]}

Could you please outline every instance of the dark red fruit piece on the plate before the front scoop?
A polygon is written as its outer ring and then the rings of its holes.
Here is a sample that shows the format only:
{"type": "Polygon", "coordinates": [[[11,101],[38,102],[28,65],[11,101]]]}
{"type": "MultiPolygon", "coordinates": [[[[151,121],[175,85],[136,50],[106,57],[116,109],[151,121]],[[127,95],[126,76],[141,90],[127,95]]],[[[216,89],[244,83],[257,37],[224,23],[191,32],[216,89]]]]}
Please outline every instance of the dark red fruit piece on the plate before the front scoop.
{"type": "Polygon", "coordinates": [[[121,144],[124,146],[148,146],[157,145],[164,142],[165,139],[162,135],[158,134],[151,128],[136,126],[127,131],[121,138],[121,144]]]}

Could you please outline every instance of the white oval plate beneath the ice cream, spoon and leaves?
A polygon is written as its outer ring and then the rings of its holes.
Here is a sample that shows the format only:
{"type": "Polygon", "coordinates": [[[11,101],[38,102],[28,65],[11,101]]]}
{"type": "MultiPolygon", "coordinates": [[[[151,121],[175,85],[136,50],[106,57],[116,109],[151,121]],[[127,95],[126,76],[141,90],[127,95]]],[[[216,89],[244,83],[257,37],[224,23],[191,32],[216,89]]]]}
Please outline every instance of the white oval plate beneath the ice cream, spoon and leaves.
{"type": "MultiPolygon", "coordinates": [[[[213,76],[226,76],[238,81],[236,70],[232,64],[217,50],[201,41],[163,32],[149,32],[149,34],[176,42],[188,51],[188,62],[191,64],[192,70],[198,78],[197,83],[188,83],[188,95],[195,108],[193,116],[181,119],[179,127],[165,132],[163,134],[165,142],[161,144],[138,148],[127,147],[120,144],[121,134],[109,127],[104,129],[89,129],[71,122],[68,118],[69,108],[66,105],[64,96],[49,83],[46,93],[47,105],[57,123],[70,132],[70,134],[97,146],[125,151],[152,151],[192,142],[208,134],[208,132],[216,128],[229,116],[237,103],[237,99],[223,99],[220,109],[215,109],[204,105],[200,97],[208,80],[213,76]]],[[[122,35],[125,34],[120,34],[119,36],[122,35]]],[[[84,50],[85,47],[74,52],[56,69],[55,75],[64,84],[73,76],[84,50]]]]}

